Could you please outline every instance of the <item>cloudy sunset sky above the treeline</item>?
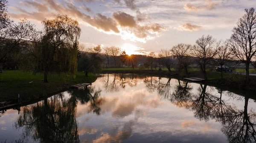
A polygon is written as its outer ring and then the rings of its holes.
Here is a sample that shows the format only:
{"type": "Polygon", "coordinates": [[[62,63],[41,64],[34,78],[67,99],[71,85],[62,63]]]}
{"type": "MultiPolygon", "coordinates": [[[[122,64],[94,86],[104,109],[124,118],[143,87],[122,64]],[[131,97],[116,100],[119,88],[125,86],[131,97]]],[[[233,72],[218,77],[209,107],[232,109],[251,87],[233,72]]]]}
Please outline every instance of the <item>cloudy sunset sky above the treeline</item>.
{"type": "Polygon", "coordinates": [[[256,0],[9,0],[8,14],[36,28],[56,14],[79,21],[80,43],[116,46],[127,54],[148,54],[203,35],[228,39],[245,8],[256,0]]]}

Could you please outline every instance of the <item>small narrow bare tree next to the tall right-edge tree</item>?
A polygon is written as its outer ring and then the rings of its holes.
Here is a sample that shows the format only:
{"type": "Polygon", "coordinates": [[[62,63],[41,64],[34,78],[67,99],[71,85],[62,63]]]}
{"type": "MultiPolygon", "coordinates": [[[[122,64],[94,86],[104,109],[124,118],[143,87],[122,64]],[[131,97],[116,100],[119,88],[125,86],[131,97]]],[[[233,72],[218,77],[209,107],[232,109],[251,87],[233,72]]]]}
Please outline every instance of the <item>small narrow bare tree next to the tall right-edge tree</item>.
{"type": "Polygon", "coordinates": [[[232,59],[233,55],[231,54],[231,50],[228,48],[227,44],[218,48],[218,53],[214,57],[214,63],[221,69],[221,80],[223,79],[223,67],[227,66],[227,63],[232,59]]]}

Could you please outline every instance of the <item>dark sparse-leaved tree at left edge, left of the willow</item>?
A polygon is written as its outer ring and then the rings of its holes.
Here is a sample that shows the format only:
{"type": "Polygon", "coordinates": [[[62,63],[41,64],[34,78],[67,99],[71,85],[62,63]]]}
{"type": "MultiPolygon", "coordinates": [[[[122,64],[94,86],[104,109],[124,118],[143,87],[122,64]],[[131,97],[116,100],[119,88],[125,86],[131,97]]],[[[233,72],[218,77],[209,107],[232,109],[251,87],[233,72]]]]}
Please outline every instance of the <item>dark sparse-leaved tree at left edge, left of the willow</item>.
{"type": "MultiPolygon", "coordinates": [[[[1,2],[0,2],[1,3],[1,2]]],[[[12,62],[13,58],[31,45],[38,37],[35,25],[26,19],[15,24],[9,22],[0,29],[0,63],[12,62]]]]}

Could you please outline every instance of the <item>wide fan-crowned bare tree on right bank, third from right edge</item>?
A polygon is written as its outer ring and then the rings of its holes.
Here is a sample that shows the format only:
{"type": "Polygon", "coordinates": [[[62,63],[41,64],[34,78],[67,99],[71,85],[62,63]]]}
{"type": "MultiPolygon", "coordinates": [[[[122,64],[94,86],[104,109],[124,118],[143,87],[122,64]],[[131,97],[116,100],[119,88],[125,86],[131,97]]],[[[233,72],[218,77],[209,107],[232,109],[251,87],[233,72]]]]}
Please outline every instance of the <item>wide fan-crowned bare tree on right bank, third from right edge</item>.
{"type": "Polygon", "coordinates": [[[221,41],[217,41],[212,36],[202,36],[196,40],[196,45],[193,46],[192,51],[196,57],[196,62],[199,64],[201,72],[204,74],[204,80],[207,81],[206,69],[212,63],[213,57],[218,53],[218,48],[221,41]]]}

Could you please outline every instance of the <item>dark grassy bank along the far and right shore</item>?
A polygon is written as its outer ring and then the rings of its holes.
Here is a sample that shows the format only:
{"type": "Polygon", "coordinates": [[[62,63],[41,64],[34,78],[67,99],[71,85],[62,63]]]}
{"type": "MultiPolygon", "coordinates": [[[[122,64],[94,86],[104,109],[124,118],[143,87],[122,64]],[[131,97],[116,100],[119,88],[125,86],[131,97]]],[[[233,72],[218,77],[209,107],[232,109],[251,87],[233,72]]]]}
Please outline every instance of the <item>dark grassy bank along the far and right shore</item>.
{"type": "MultiPolygon", "coordinates": [[[[129,69],[129,68],[108,68],[102,70],[102,73],[134,73],[134,74],[146,74],[152,76],[160,76],[160,77],[176,77],[176,78],[184,78],[186,77],[186,73],[183,71],[181,73],[176,72],[172,69],[172,72],[169,73],[167,70],[141,70],[141,69],[129,69]],[[179,74],[177,76],[176,74],[179,74]]],[[[198,77],[204,79],[203,74],[199,71],[199,69],[192,68],[189,69],[189,77],[198,77]]],[[[212,86],[219,87],[225,86],[230,88],[237,88],[239,90],[250,90],[256,91],[256,76],[250,76],[250,84],[245,87],[244,79],[245,75],[243,74],[233,74],[233,73],[223,73],[223,81],[221,82],[221,72],[217,71],[207,71],[207,83],[212,86]]]]}

